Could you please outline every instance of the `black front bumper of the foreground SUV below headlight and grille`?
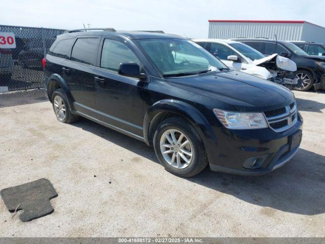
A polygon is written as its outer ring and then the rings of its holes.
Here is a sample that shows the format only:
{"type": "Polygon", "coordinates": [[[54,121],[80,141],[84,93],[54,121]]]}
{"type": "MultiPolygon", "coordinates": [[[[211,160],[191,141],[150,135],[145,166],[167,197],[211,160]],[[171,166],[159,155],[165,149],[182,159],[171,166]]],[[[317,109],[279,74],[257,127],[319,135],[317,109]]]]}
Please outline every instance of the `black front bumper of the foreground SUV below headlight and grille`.
{"type": "Polygon", "coordinates": [[[213,171],[239,175],[263,175],[283,166],[297,153],[300,142],[291,149],[291,140],[300,134],[303,120],[298,115],[297,123],[287,131],[276,133],[271,129],[230,131],[214,128],[217,145],[208,148],[209,165],[213,171]],[[247,168],[246,162],[260,160],[255,168],[247,168]]]}

